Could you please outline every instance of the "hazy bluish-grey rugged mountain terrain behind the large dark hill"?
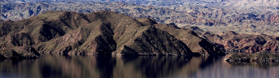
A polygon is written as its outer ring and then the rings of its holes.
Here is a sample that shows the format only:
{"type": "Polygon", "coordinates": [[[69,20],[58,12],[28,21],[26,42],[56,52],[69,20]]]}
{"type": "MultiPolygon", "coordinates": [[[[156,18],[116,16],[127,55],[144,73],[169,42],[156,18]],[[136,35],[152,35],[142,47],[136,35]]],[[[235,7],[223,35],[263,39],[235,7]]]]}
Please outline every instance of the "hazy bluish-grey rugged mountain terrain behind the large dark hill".
{"type": "Polygon", "coordinates": [[[158,23],[175,23],[178,27],[196,25],[214,33],[235,31],[279,36],[278,0],[25,1],[1,0],[1,19],[22,20],[50,10],[79,13],[109,10],[133,18],[153,18],[158,23]]]}

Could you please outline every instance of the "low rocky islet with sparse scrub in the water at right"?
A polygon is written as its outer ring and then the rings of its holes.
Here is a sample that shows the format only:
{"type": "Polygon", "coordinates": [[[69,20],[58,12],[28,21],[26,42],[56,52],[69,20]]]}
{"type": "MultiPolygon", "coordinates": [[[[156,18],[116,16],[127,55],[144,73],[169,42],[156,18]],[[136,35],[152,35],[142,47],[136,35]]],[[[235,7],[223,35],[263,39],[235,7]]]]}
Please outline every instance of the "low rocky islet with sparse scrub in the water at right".
{"type": "Polygon", "coordinates": [[[249,55],[229,53],[226,55],[224,60],[227,62],[279,62],[279,54],[272,54],[268,51],[257,52],[249,55]]]}

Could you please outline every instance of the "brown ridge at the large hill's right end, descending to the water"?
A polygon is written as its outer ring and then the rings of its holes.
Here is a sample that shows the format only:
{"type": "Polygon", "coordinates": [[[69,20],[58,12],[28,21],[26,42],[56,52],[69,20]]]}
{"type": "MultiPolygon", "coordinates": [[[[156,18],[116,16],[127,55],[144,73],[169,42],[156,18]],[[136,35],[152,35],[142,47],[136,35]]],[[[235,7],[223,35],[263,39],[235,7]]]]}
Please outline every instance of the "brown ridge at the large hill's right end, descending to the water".
{"type": "Polygon", "coordinates": [[[167,31],[175,36],[175,38],[183,41],[194,53],[199,53],[201,55],[225,55],[225,52],[204,38],[199,37],[192,30],[178,29],[175,25],[163,24],[156,24],[155,27],[167,31]]]}

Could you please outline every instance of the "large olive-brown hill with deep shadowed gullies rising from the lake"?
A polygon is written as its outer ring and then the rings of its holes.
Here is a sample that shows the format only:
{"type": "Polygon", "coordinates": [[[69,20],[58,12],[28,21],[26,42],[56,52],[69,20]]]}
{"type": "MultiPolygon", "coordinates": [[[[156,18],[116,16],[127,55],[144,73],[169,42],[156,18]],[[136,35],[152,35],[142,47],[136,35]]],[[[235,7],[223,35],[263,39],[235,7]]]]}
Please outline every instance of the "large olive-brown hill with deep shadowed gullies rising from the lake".
{"type": "Polygon", "coordinates": [[[3,21],[0,31],[1,55],[6,57],[6,49],[31,55],[225,55],[191,30],[111,11],[48,11],[20,21],[3,21]]]}

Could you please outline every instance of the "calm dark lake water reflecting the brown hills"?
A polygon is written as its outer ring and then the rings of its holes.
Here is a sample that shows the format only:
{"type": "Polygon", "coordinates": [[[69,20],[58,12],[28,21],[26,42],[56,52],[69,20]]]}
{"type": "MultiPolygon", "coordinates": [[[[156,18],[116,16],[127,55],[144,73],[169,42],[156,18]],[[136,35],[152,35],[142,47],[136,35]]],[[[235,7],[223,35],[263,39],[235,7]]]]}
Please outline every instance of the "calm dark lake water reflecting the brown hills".
{"type": "Polygon", "coordinates": [[[228,63],[224,57],[42,54],[1,60],[1,78],[279,78],[278,63],[228,63]],[[188,59],[188,60],[187,60],[188,59]]]}

